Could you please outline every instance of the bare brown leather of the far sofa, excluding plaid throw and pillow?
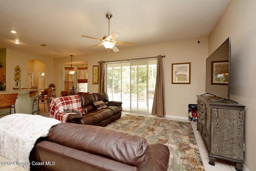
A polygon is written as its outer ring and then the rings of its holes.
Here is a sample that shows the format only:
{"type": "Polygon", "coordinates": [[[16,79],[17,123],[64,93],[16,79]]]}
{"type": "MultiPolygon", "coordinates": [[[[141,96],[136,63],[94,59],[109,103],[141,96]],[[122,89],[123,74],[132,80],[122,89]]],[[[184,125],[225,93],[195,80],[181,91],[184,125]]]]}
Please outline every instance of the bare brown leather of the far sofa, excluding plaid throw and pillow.
{"type": "Polygon", "coordinates": [[[109,101],[107,93],[92,93],[79,95],[82,109],[85,113],[81,119],[74,119],[69,115],[68,122],[84,125],[106,126],[121,117],[122,102],[109,101]],[[106,108],[97,109],[94,101],[102,100],[106,108]]]}

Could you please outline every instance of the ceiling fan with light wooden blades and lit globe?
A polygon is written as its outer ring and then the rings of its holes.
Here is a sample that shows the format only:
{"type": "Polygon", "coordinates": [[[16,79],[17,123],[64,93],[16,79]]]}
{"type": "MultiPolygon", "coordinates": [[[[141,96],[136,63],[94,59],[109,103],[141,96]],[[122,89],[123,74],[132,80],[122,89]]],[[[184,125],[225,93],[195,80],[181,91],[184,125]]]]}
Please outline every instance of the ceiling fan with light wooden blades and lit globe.
{"type": "Polygon", "coordinates": [[[102,43],[100,44],[96,44],[94,46],[90,46],[89,48],[94,48],[96,46],[101,46],[104,45],[104,47],[106,49],[112,49],[114,52],[118,52],[118,48],[115,45],[125,45],[125,46],[134,46],[134,43],[131,42],[120,42],[120,41],[116,41],[116,38],[120,35],[119,33],[116,32],[112,32],[111,34],[109,34],[109,26],[110,26],[110,19],[112,18],[112,14],[106,14],[106,18],[108,19],[108,35],[107,36],[103,36],[102,39],[98,39],[98,38],[93,38],[90,36],[84,36],[82,35],[82,37],[84,38],[90,38],[90,39],[95,39],[95,40],[99,40],[102,43]]]}

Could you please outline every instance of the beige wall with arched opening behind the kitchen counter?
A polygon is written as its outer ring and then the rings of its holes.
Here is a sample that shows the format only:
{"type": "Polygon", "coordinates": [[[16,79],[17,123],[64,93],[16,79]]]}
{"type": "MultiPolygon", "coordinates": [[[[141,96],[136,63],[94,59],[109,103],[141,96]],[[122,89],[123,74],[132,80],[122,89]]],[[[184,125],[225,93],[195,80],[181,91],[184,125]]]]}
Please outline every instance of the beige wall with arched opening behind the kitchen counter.
{"type": "Polygon", "coordinates": [[[23,87],[27,87],[29,60],[40,60],[44,62],[46,64],[46,87],[50,83],[53,83],[53,58],[6,49],[6,91],[12,90],[12,87],[14,87],[14,68],[17,65],[22,68],[22,81],[20,83],[23,87]]]}

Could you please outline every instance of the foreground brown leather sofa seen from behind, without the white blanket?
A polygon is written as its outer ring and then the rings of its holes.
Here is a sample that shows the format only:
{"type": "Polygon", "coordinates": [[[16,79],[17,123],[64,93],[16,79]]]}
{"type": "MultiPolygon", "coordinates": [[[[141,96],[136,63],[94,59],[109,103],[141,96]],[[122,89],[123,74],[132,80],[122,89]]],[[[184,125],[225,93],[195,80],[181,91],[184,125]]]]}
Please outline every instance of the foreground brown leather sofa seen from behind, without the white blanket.
{"type": "Polygon", "coordinates": [[[32,171],[167,171],[169,149],[140,135],[59,123],[30,153],[32,171]],[[33,164],[34,163],[34,164],[33,164]]]}

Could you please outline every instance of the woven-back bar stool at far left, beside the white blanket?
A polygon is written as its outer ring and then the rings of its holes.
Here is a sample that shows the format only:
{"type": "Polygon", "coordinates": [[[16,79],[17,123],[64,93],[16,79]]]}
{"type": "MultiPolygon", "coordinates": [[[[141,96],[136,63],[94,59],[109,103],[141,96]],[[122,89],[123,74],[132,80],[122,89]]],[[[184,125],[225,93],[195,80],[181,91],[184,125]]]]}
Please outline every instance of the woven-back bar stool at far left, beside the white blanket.
{"type": "MultiPolygon", "coordinates": [[[[11,114],[12,108],[14,108],[14,113],[16,113],[15,102],[17,97],[18,97],[18,93],[0,93],[0,110],[10,109],[10,114],[11,114]]],[[[2,115],[6,115],[7,113],[4,113],[2,115]]]]}

